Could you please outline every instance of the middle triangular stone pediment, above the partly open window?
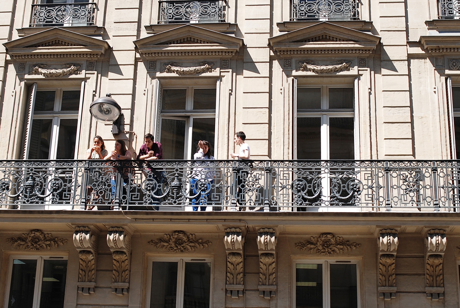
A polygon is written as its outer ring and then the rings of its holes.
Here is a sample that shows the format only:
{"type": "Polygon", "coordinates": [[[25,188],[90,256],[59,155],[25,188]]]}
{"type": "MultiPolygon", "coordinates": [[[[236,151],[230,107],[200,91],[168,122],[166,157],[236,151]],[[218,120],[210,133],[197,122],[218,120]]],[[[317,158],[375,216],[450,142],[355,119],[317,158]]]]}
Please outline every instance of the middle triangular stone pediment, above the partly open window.
{"type": "Polygon", "coordinates": [[[142,58],[231,57],[243,40],[187,24],[136,40],[134,45],[142,58]]]}

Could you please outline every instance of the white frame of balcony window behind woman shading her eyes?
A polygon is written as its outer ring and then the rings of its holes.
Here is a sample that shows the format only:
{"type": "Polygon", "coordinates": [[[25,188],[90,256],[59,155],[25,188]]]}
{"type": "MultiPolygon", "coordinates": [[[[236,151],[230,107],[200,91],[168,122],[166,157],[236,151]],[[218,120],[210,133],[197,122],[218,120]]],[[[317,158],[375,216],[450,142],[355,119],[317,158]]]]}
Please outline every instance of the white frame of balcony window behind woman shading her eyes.
{"type": "MultiPolygon", "coordinates": [[[[158,87],[158,86],[157,86],[158,87]]],[[[185,99],[185,110],[161,110],[162,101],[158,102],[158,108],[160,116],[157,121],[159,121],[158,125],[158,132],[156,137],[158,141],[161,141],[161,120],[162,119],[172,119],[172,120],[185,120],[185,145],[184,145],[184,159],[191,159],[190,157],[195,152],[196,149],[193,148],[191,143],[192,138],[192,131],[193,131],[193,119],[195,118],[215,118],[214,124],[214,144],[213,144],[213,153],[214,157],[217,153],[217,142],[218,142],[218,135],[219,135],[219,80],[218,86],[168,86],[168,87],[161,87],[159,91],[161,91],[161,95],[157,95],[160,99],[162,99],[162,91],[166,89],[186,89],[186,99],[185,99]],[[195,89],[216,89],[216,105],[214,109],[203,109],[203,110],[193,110],[193,94],[195,89]]],[[[208,140],[209,141],[209,140],[208,140]]]]}

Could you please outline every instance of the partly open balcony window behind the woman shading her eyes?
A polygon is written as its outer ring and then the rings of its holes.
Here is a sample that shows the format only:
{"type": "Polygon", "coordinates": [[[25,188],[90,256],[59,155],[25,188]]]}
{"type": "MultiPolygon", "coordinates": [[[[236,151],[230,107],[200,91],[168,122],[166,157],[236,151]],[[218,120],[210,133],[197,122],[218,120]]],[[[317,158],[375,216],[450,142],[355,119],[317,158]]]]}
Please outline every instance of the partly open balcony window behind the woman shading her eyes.
{"type": "Polygon", "coordinates": [[[200,140],[215,148],[215,130],[215,88],[163,88],[160,142],[164,159],[193,159],[200,140]]]}

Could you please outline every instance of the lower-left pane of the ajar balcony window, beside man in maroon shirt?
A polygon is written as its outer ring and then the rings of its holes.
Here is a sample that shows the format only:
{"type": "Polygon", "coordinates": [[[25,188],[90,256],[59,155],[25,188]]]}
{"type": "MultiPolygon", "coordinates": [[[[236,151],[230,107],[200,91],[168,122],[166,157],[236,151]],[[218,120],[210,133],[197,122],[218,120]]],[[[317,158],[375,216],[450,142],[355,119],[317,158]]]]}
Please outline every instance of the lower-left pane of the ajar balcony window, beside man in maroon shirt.
{"type": "Polygon", "coordinates": [[[161,119],[163,159],[184,159],[185,120],[161,119]]]}

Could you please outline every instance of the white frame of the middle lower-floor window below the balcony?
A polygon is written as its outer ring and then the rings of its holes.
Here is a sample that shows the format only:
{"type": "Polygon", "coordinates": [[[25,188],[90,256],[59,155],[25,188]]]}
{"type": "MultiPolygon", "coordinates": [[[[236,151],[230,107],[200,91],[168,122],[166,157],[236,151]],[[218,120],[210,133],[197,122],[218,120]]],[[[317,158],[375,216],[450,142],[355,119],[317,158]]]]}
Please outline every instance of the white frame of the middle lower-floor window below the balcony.
{"type": "Polygon", "coordinates": [[[150,307],[150,292],[152,286],[152,263],[153,262],[178,262],[177,267],[177,291],[176,308],[182,308],[184,302],[185,262],[211,263],[211,280],[209,281],[209,307],[213,307],[213,283],[214,283],[214,262],[210,257],[149,257],[147,266],[147,298],[145,307],[150,307]],[[180,277],[179,277],[180,276],[180,277]]]}

